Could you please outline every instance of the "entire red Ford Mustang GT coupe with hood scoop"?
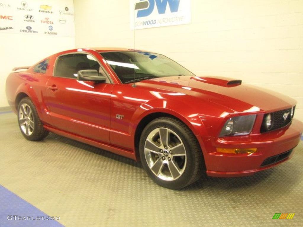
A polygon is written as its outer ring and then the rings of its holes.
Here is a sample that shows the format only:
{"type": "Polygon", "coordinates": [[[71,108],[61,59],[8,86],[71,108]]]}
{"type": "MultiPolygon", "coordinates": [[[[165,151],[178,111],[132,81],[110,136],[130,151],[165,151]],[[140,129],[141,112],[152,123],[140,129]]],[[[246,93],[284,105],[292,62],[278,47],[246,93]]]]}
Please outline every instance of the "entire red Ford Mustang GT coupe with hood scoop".
{"type": "Polygon", "coordinates": [[[6,94],[26,139],[53,132],[140,159],[171,189],[205,172],[248,176],[275,166],[291,157],[303,131],[295,100],[196,76],[161,54],[74,49],[13,71],[6,94]]]}

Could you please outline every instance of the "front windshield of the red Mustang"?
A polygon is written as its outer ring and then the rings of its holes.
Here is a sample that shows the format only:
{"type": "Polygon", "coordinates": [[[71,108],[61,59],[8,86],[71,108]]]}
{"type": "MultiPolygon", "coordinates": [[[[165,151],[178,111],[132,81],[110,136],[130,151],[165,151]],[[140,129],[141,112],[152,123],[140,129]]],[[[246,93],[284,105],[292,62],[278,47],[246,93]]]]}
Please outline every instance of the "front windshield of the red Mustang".
{"type": "Polygon", "coordinates": [[[100,53],[115,71],[122,83],[152,78],[191,75],[190,71],[161,54],[120,51],[100,53]]]}

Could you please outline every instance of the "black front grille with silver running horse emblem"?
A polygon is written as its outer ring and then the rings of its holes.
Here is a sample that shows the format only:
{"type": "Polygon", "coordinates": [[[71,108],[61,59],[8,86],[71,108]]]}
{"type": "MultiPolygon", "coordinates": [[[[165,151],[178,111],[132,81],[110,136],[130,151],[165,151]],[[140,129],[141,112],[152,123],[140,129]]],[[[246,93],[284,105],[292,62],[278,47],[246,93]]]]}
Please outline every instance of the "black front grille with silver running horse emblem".
{"type": "Polygon", "coordinates": [[[261,133],[265,133],[268,131],[285,127],[291,122],[291,108],[272,112],[271,114],[272,114],[272,122],[273,122],[271,128],[270,129],[266,128],[266,117],[268,114],[264,114],[263,123],[260,130],[261,133]],[[287,117],[284,118],[286,115],[287,117]]]}

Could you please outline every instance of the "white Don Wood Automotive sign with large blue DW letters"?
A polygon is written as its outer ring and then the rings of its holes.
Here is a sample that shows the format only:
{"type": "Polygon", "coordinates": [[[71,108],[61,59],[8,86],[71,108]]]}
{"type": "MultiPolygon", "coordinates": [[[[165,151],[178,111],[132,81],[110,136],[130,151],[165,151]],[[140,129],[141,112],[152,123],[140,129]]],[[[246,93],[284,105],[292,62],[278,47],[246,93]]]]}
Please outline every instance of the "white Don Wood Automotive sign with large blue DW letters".
{"type": "Polygon", "coordinates": [[[131,29],[191,22],[191,0],[130,0],[131,29]]]}

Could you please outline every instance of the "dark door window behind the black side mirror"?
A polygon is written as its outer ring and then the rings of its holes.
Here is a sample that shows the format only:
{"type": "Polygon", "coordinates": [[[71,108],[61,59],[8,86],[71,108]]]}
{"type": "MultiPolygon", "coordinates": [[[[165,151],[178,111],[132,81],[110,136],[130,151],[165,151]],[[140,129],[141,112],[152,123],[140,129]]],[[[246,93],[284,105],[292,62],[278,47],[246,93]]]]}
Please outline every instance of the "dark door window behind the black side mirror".
{"type": "Polygon", "coordinates": [[[99,72],[100,64],[89,54],[67,54],[58,57],[54,76],[76,79],[78,71],[86,69],[99,72]]]}

